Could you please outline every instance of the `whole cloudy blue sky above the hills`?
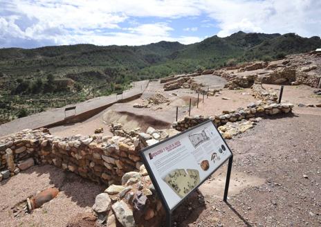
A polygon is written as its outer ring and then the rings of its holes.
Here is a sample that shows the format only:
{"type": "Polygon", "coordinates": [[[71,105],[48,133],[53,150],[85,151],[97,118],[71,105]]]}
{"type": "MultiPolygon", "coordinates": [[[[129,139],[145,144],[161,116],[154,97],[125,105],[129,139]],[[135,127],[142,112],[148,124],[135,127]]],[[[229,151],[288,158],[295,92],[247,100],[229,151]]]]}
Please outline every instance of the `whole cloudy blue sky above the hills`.
{"type": "Polygon", "coordinates": [[[0,47],[200,42],[239,30],[321,35],[319,0],[0,0],[0,47]]]}

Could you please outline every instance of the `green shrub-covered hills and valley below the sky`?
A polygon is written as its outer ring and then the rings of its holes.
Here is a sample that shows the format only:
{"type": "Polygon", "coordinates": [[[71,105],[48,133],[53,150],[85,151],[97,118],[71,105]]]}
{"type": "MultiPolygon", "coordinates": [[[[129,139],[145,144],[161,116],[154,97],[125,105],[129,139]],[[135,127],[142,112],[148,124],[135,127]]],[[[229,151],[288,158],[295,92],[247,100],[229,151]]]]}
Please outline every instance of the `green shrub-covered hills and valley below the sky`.
{"type": "Polygon", "coordinates": [[[235,33],[183,45],[46,46],[0,49],[0,123],[127,89],[131,81],[239,62],[273,60],[321,47],[320,37],[235,33]]]}

